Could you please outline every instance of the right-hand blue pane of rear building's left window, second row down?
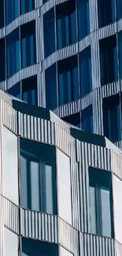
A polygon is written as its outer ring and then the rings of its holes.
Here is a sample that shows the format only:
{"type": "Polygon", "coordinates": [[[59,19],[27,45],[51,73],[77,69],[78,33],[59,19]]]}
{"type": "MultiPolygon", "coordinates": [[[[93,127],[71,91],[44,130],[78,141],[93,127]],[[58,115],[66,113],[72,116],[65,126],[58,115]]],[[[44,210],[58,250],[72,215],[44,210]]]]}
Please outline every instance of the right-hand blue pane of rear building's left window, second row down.
{"type": "Polygon", "coordinates": [[[21,35],[21,63],[22,68],[33,65],[36,62],[35,47],[35,21],[24,24],[20,28],[21,35]]]}

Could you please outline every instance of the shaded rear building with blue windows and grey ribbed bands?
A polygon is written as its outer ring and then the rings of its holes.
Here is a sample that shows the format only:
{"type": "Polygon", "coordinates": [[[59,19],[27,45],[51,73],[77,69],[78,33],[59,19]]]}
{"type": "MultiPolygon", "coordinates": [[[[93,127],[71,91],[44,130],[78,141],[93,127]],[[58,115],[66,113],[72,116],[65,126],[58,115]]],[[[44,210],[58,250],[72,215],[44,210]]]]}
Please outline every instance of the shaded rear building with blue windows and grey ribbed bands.
{"type": "Polygon", "coordinates": [[[0,49],[3,91],[122,148],[121,0],[1,0],[0,49]]]}

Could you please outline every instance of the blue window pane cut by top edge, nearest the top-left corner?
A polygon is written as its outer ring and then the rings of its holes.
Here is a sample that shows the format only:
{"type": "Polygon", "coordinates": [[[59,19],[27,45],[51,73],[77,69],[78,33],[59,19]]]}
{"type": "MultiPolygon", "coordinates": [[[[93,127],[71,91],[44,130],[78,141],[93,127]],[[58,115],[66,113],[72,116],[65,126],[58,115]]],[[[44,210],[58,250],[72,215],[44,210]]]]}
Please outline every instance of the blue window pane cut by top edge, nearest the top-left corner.
{"type": "Polygon", "coordinates": [[[19,17],[19,0],[6,0],[6,24],[19,17]]]}

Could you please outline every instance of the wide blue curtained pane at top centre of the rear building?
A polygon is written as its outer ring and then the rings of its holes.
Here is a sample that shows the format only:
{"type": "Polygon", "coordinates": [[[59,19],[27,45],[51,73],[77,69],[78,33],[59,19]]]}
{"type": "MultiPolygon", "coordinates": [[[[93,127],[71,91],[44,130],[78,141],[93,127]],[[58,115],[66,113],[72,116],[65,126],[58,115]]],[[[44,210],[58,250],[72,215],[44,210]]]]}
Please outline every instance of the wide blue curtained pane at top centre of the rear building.
{"type": "Polygon", "coordinates": [[[57,49],[76,43],[76,2],[68,1],[56,7],[57,49]]]}

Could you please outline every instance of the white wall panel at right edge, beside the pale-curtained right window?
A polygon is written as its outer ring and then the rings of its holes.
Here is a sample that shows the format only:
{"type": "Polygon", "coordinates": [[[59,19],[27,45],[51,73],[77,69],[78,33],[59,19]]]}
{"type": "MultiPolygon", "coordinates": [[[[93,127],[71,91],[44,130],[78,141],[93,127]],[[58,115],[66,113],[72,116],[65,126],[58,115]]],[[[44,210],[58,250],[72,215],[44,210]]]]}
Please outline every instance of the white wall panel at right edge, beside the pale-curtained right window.
{"type": "Polygon", "coordinates": [[[122,181],[113,175],[113,221],[115,239],[122,243],[122,181]]]}

